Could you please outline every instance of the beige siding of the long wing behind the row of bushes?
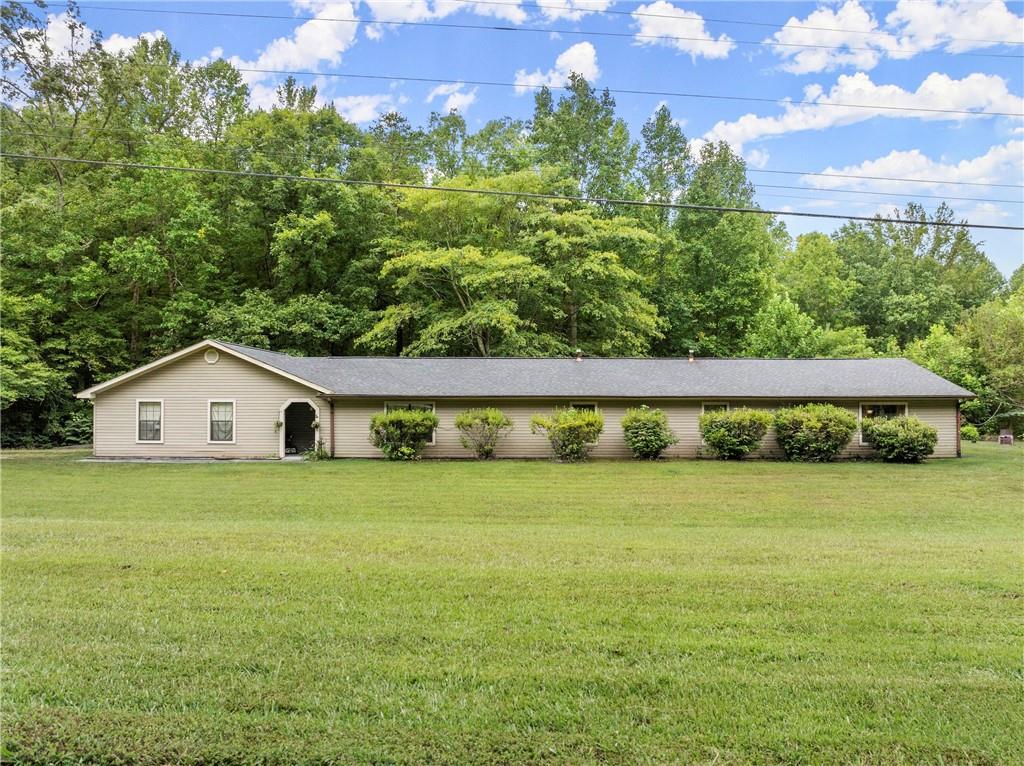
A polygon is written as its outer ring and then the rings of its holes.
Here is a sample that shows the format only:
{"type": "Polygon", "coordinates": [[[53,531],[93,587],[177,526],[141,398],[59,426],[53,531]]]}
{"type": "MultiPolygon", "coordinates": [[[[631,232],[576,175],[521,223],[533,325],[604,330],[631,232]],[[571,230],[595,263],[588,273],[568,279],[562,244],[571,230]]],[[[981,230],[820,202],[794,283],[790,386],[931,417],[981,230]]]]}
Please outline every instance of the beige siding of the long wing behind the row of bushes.
{"type": "MultiPolygon", "coordinates": [[[[573,400],[584,400],[585,397],[573,400]]],[[[592,399],[588,399],[592,400],[592,399]]],[[[712,399],[708,399],[711,401],[712,399]]],[[[788,402],[775,400],[728,400],[716,398],[715,401],[729,401],[730,408],[752,407],[774,410],[788,402]]],[[[370,418],[374,413],[383,412],[386,399],[337,399],[335,401],[335,450],[339,458],[379,458],[380,451],[370,443],[370,418]]],[[[550,413],[556,407],[567,407],[568,399],[510,399],[510,400],[478,400],[478,399],[417,399],[417,401],[432,401],[437,418],[440,421],[435,436],[435,443],[424,451],[426,458],[471,458],[472,454],[462,446],[459,432],[455,428],[455,416],[463,410],[474,407],[498,407],[505,412],[513,422],[512,431],[500,442],[497,450],[499,458],[550,458],[551,446],[543,434],[529,432],[529,420],[537,413],[550,413]]],[[[623,438],[620,425],[626,410],[646,403],[665,411],[669,417],[669,425],[679,438],[679,442],[666,451],[668,458],[695,458],[702,455],[698,419],[700,417],[700,399],[670,399],[670,400],[597,400],[598,409],[604,415],[604,432],[592,452],[595,458],[623,459],[629,458],[630,452],[623,438]]],[[[842,400],[835,403],[847,408],[855,417],[859,411],[859,401],[842,400]]],[[[939,443],[935,457],[955,457],[956,455],[956,403],[952,399],[930,402],[907,402],[909,415],[921,418],[935,426],[939,432],[939,443]]],[[[859,433],[855,433],[843,457],[868,457],[871,453],[867,446],[859,444],[859,433]]],[[[755,458],[782,457],[774,434],[769,431],[764,445],[758,450],[755,458]]]]}

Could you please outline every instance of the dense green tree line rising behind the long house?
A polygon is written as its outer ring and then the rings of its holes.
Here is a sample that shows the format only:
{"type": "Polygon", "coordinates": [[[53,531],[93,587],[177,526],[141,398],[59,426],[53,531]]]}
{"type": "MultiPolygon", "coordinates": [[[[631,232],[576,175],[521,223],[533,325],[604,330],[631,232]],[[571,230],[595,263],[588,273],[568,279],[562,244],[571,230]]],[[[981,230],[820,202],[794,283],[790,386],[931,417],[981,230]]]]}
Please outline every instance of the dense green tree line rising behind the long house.
{"type": "MultiPolygon", "coordinates": [[[[756,207],[743,160],[667,105],[633,136],[572,76],[528,120],[369,127],[288,80],[249,105],[224,60],[166,39],[114,55],[74,4],[70,49],[2,9],[4,150],[41,157],[756,207]]],[[[74,391],[204,337],[300,354],[906,354],[981,399],[1024,400],[1024,271],[966,229],[902,217],[792,238],[771,216],[5,159],[2,436],[88,438],[74,391]]]]}

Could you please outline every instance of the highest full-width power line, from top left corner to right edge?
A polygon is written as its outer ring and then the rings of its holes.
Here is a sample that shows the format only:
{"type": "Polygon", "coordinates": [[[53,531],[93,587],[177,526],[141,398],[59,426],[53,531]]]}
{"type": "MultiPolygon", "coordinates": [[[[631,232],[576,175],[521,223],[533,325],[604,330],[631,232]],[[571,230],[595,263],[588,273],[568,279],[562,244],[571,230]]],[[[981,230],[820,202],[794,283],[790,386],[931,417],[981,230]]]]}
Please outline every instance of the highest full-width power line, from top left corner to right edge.
{"type": "MultiPolygon", "coordinates": [[[[19,0],[18,0],[19,1],[19,0]]],[[[19,2],[19,4],[26,4],[19,2]]],[[[63,7],[61,3],[45,3],[46,7],[63,7]]],[[[578,35],[586,37],[628,37],[632,39],[641,40],[675,40],[680,42],[692,42],[697,44],[722,44],[722,42],[728,42],[733,45],[755,45],[757,47],[762,47],[764,45],[771,45],[772,47],[783,47],[783,48],[810,48],[810,49],[821,49],[821,50],[850,50],[850,51],[869,51],[878,52],[878,48],[868,47],[858,47],[851,45],[819,45],[816,43],[781,43],[781,42],[764,42],[761,40],[728,40],[719,41],[708,37],[685,37],[681,35],[644,35],[640,33],[633,32],[607,32],[607,31],[597,31],[597,30],[570,30],[570,29],[551,29],[547,27],[507,27],[502,25],[486,25],[486,24],[461,24],[455,22],[415,22],[415,20],[386,20],[386,19],[373,19],[373,18],[343,18],[343,17],[332,17],[332,16],[301,16],[301,15],[284,15],[276,13],[241,13],[241,12],[229,12],[229,11],[215,11],[215,10],[172,10],[170,8],[125,8],[120,6],[110,6],[110,5],[80,5],[80,8],[87,10],[103,10],[103,11],[114,11],[121,13],[166,13],[171,15],[189,15],[189,16],[222,16],[227,18],[270,18],[270,19],[282,19],[289,22],[330,22],[334,24],[356,24],[356,25],[387,25],[389,27],[427,27],[434,29],[450,29],[450,30],[477,30],[483,32],[529,32],[529,33],[542,33],[542,34],[558,34],[558,35],[578,35]]],[[[973,51],[965,51],[963,53],[948,53],[942,50],[905,50],[903,52],[911,53],[914,55],[965,55],[965,56],[978,56],[983,58],[1024,58],[1024,55],[1017,53],[978,53],[973,51]]]]}

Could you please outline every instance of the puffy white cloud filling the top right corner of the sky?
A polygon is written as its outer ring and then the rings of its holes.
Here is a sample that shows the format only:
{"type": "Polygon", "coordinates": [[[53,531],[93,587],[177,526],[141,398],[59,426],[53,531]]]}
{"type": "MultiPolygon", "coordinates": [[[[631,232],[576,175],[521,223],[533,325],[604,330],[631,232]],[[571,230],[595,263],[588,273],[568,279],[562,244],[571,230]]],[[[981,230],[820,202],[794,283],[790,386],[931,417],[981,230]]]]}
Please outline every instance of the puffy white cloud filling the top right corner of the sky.
{"type": "Polygon", "coordinates": [[[883,57],[910,58],[936,48],[958,53],[997,44],[991,40],[1024,43],[1024,16],[1015,15],[1002,0],[900,0],[884,26],[858,0],[846,0],[838,8],[821,6],[806,18],[790,18],[765,42],[774,44],[783,70],[807,74],[841,67],[869,70],[883,57]],[[844,32],[825,31],[831,29],[844,32]]]}

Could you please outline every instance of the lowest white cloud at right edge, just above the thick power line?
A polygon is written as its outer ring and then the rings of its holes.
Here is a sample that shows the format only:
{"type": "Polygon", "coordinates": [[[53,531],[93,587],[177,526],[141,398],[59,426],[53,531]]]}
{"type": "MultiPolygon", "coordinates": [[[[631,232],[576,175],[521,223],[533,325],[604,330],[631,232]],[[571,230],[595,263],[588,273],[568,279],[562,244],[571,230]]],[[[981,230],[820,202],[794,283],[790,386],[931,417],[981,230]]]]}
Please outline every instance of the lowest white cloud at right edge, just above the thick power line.
{"type": "MultiPolygon", "coordinates": [[[[1012,140],[991,146],[984,155],[957,163],[933,160],[920,150],[890,152],[877,160],[865,160],[859,165],[842,168],[831,166],[822,170],[826,174],[844,176],[879,176],[890,178],[919,178],[933,180],[934,183],[913,183],[888,181],[878,178],[828,178],[819,175],[801,176],[801,181],[815,188],[847,188],[857,192],[898,192],[913,193],[945,190],[953,194],[951,184],[970,183],[1021,183],[1021,168],[1024,167],[1024,140],[1012,140]]],[[[961,189],[958,195],[964,195],[961,189]]],[[[1013,193],[1000,193],[1011,197],[1013,193]]],[[[971,196],[971,195],[967,195],[971,196]]],[[[980,196],[980,195],[975,195],[980,196]]],[[[1020,193],[1017,195],[1020,197],[1020,193]]]]}

